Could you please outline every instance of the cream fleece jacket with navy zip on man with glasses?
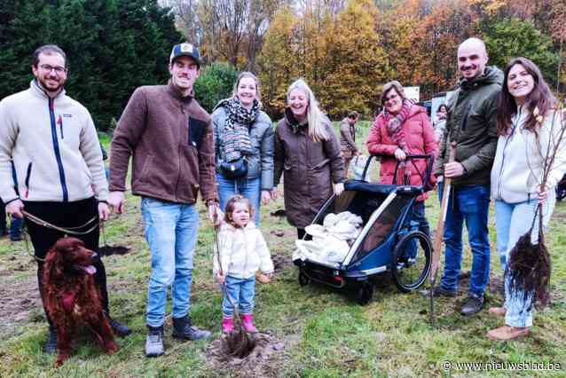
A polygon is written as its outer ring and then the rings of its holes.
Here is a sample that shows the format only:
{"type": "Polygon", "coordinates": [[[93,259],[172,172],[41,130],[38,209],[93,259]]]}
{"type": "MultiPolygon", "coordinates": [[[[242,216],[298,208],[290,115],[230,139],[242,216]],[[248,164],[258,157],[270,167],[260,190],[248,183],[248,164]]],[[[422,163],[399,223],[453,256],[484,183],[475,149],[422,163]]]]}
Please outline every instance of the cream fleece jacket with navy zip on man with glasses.
{"type": "Polygon", "coordinates": [[[106,201],[108,185],[89,111],[65,91],[48,97],[34,81],[0,102],[0,196],[23,201],[106,201]]]}

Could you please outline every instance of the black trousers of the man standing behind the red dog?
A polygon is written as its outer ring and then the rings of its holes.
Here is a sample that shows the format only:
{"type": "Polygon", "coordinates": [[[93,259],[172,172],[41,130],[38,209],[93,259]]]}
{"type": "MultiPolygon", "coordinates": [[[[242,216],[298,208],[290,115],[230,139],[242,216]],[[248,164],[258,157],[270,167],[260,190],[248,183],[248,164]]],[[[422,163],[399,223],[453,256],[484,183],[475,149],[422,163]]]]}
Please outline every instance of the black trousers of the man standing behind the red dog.
{"type": "MultiPolygon", "coordinates": [[[[87,200],[74,202],[47,202],[47,201],[25,201],[24,209],[28,213],[38,217],[45,222],[57,225],[63,228],[78,227],[88,222],[92,217],[96,217],[95,223],[98,223],[98,201],[94,197],[87,200]]],[[[83,229],[75,230],[79,232],[87,231],[93,224],[87,224],[83,229]]],[[[65,236],[63,232],[43,227],[43,225],[35,224],[30,220],[26,220],[29,237],[34,245],[35,256],[45,258],[49,249],[55,244],[59,238],[65,236]]],[[[98,253],[98,237],[100,229],[97,227],[86,235],[68,235],[83,240],[84,246],[98,253]]],[[[43,261],[37,261],[37,283],[40,294],[43,293],[43,261]]],[[[106,270],[100,256],[96,256],[92,265],[97,268],[94,274],[94,281],[100,290],[103,309],[107,314],[108,311],[108,291],[106,289],[106,270]]],[[[43,297],[43,295],[42,295],[43,297]]],[[[43,305],[45,316],[50,325],[51,319],[45,306],[43,305]]]]}

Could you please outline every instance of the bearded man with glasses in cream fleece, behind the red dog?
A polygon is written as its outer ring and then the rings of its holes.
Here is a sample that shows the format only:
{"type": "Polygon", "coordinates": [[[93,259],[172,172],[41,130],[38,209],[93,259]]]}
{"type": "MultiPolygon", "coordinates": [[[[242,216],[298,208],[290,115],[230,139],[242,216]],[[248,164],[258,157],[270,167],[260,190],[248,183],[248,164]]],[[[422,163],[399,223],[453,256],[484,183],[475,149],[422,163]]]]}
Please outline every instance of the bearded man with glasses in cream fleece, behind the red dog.
{"type": "MultiPolygon", "coordinates": [[[[109,209],[97,130],[89,111],[65,93],[64,51],[56,45],[39,47],[33,55],[32,72],[35,78],[28,90],[0,102],[0,197],[13,217],[22,218],[25,210],[49,224],[86,232],[76,237],[86,248],[98,251],[98,226],[88,231],[108,218],[109,209]]],[[[41,293],[43,259],[64,233],[31,221],[28,232],[41,293]]],[[[104,264],[97,256],[93,265],[94,280],[108,315],[104,264]]],[[[45,314],[50,332],[43,350],[53,353],[57,350],[57,332],[47,311],[45,314]]],[[[130,334],[130,328],[114,319],[110,324],[116,335],[130,334]]]]}

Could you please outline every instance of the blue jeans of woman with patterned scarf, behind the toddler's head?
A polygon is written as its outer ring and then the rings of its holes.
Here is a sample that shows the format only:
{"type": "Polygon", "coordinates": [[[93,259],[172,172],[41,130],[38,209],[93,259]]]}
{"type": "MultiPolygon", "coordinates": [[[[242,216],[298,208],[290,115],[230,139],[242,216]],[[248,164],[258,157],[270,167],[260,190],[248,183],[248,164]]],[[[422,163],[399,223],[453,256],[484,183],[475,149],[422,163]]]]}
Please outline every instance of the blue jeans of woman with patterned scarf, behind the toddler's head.
{"type": "Polygon", "coordinates": [[[236,178],[231,180],[220,173],[216,173],[216,184],[218,185],[218,197],[220,197],[220,209],[224,211],[226,204],[232,196],[241,194],[246,197],[254,207],[255,225],[259,225],[259,206],[262,194],[261,178],[236,178]]]}

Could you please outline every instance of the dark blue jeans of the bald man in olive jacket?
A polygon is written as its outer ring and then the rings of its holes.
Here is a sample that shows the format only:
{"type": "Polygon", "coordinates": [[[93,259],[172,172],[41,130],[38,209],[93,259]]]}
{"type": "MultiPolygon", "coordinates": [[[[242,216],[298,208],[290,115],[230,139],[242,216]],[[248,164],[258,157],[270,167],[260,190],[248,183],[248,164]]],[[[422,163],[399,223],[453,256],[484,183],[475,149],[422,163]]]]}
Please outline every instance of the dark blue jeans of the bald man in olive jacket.
{"type": "Polygon", "coordinates": [[[466,223],[472,250],[468,293],[483,298],[483,292],[490,279],[490,239],[487,229],[490,187],[452,186],[450,196],[444,224],[444,274],[440,286],[446,290],[458,289],[458,274],[462,264],[462,232],[466,223]]]}

